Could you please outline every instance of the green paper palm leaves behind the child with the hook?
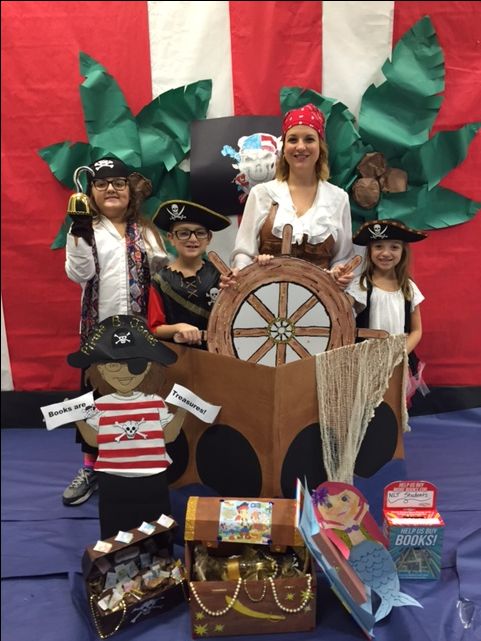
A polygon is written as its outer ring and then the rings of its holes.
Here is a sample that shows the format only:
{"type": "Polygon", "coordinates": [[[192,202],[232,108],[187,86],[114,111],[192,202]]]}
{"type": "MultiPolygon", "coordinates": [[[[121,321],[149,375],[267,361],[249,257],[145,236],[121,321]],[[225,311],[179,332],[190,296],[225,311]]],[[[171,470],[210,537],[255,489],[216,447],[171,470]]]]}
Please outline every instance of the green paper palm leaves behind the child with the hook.
{"type": "MultiPolygon", "coordinates": [[[[55,178],[76,190],[77,167],[115,156],[152,181],[152,196],[144,204],[147,216],[164,200],[188,199],[189,174],[179,165],[190,152],[190,124],[206,117],[212,81],[166,91],[134,116],[116,80],[86,53],[80,53],[80,73],[85,76],[80,97],[89,142],[65,141],[39,150],[55,178]]],[[[66,218],[52,249],[65,246],[68,226],[66,218]]]]}

